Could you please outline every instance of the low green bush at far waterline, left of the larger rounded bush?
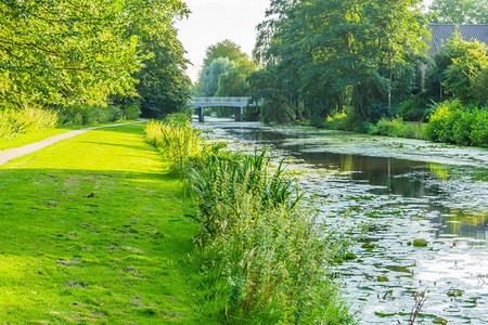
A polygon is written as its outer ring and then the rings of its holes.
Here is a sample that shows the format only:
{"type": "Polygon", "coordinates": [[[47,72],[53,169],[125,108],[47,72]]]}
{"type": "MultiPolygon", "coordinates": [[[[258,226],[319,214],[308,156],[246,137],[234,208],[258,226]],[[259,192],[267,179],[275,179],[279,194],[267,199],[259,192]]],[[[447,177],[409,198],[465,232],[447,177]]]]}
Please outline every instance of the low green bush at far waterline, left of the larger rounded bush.
{"type": "Polygon", "coordinates": [[[381,134],[394,138],[423,139],[422,123],[404,122],[399,118],[382,118],[370,131],[371,134],[381,134]]]}

